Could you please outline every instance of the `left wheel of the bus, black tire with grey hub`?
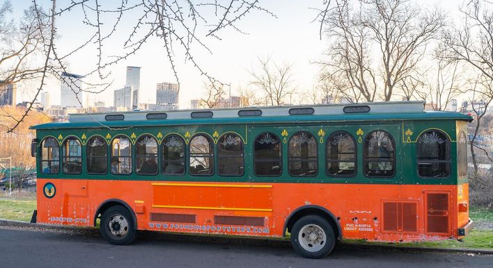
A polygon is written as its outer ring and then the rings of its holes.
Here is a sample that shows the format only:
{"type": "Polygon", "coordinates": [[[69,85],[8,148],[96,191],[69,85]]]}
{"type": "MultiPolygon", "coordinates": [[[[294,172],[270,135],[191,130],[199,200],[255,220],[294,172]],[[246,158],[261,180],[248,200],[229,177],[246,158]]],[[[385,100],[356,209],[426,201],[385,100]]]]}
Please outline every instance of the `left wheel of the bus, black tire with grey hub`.
{"type": "Polygon", "coordinates": [[[104,210],[100,230],[104,240],[110,244],[130,244],[137,237],[134,219],[130,211],[123,206],[113,206],[104,210]]]}

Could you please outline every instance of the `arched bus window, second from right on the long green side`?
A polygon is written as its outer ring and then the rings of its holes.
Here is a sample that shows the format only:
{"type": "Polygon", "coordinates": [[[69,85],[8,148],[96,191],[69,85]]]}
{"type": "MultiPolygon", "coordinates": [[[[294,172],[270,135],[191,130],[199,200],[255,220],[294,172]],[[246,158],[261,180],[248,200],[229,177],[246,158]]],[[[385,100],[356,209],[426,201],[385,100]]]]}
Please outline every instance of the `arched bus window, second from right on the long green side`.
{"type": "Polygon", "coordinates": [[[392,177],[396,166],[396,146],[386,131],[366,135],[363,146],[363,169],[368,177],[392,177]]]}

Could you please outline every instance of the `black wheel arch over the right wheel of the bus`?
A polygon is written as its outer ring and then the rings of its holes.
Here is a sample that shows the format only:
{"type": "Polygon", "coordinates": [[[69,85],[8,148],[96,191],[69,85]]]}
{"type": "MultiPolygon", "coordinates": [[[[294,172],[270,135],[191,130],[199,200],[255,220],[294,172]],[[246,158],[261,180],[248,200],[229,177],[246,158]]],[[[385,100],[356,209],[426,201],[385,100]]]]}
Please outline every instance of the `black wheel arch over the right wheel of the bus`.
{"type": "Polygon", "coordinates": [[[334,229],[337,240],[343,239],[341,224],[334,216],[334,214],[329,210],[327,210],[327,208],[321,206],[315,206],[315,205],[302,206],[297,208],[295,211],[291,212],[291,214],[288,216],[288,218],[284,223],[283,237],[285,237],[286,229],[288,230],[288,232],[291,232],[292,226],[295,225],[296,221],[307,215],[318,215],[326,219],[329,222],[329,224],[331,224],[331,227],[334,229]]]}

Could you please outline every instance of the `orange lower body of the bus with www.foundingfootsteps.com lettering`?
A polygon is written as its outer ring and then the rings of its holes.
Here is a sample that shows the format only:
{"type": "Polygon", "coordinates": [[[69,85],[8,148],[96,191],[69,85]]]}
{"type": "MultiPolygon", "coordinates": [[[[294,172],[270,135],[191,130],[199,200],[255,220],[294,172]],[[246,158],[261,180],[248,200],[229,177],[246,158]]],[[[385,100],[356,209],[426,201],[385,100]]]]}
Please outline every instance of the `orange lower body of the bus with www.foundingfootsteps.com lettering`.
{"type": "Polygon", "coordinates": [[[93,226],[109,199],[127,203],[139,230],[282,237],[304,206],[331,212],[345,239],[411,242],[457,238],[468,185],[214,183],[38,179],[38,223],[93,226]],[[462,188],[462,189],[461,189],[462,188]],[[439,223],[439,224],[436,224],[439,223]],[[446,225],[444,227],[444,225],[446,225]]]}

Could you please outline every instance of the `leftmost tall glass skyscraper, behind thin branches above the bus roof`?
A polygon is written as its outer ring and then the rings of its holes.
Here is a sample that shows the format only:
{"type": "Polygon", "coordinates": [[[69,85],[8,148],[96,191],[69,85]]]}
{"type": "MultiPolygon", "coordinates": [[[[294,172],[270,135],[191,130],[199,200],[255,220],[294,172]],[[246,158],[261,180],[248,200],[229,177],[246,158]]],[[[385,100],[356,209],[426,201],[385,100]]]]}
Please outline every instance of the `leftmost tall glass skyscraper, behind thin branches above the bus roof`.
{"type": "Polygon", "coordinates": [[[63,72],[61,74],[60,103],[61,107],[81,107],[84,100],[82,78],[78,74],[63,72]]]}

